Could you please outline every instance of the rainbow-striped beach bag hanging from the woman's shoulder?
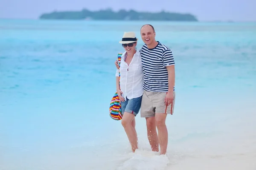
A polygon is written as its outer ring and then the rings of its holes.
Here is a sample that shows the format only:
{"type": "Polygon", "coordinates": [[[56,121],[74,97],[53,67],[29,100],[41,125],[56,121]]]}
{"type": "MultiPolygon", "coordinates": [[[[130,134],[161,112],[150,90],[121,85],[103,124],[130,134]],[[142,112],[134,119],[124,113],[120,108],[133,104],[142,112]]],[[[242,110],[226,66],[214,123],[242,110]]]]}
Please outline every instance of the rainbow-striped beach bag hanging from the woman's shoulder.
{"type": "MultiPolygon", "coordinates": [[[[121,56],[122,56],[122,53],[118,53],[117,58],[118,58],[119,68],[120,68],[121,56]]],[[[120,70],[119,70],[119,79],[120,79],[120,70]]],[[[121,102],[117,92],[114,94],[113,98],[111,99],[110,107],[109,107],[109,115],[114,120],[122,119],[121,102]]]]}

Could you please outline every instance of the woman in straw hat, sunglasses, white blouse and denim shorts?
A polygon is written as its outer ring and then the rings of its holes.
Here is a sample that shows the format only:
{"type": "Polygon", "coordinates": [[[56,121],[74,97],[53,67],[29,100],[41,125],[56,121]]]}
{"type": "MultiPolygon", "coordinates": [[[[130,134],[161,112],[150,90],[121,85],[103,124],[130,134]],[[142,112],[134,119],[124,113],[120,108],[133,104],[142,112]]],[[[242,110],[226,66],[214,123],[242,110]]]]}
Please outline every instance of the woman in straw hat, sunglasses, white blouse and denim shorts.
{"type": "Polygon", "coordinates": [[[138,148],[135,116],[140,111],[143,95],[143,68],[140,52],[136,50],[137,40],[134,32],[124,33],[119,43],[125,52],[121,57],[120,68],[116,70],[116,91],[121,101],[122,126],[131,143],[132,152],[138,148]]]}

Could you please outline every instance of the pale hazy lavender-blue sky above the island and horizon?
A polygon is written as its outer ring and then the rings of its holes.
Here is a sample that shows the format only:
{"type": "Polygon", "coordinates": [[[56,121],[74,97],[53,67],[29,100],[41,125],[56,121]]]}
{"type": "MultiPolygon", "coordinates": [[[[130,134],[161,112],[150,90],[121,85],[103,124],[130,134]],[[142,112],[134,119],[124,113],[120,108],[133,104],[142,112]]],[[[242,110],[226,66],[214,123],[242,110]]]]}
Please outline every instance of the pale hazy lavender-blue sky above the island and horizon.
{"type": "Polygon", "coordinates": [[[134,9],[191,13],[201,21],[256,21],[256,0],[0,0],[0,18],[38,18],[63,10],[134,9]],[[159,2],[159,3],[157,3],[159,2]]]}

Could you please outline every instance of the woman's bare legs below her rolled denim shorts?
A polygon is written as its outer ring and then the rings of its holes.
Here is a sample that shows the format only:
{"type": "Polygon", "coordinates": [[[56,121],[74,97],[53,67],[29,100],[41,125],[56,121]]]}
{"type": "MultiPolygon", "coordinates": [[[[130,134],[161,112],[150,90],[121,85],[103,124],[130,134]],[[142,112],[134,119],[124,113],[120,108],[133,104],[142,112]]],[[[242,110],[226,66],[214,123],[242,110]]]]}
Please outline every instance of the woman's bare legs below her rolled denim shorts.
{"type": "Polygon", "coordinates": [[[137,133],[135,128],[132,126],[132,121],[133,120],[135,121],[134,117],[135,117],[134,114],[128,113],[128,112],[125,112],[122,117],[122,126],[124,127],[127,137],[129,139],[129,142],[131,144],[132,152],[135,152],[135,150],[138,149],[137,133]]]}

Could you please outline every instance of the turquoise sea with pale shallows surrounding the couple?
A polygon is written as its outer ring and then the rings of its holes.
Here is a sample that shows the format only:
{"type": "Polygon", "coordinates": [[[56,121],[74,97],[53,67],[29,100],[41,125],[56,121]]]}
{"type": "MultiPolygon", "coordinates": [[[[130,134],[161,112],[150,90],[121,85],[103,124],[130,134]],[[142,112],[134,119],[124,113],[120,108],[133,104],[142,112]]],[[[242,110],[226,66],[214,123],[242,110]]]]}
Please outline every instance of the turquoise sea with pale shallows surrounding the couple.
{"type": "Polygon", "coordinates": [[[256,23],[0,20],[0,170],[256,170],[256,23]],[[175,57],[166,155],[109,116],[124,31],[175,57]]]}

